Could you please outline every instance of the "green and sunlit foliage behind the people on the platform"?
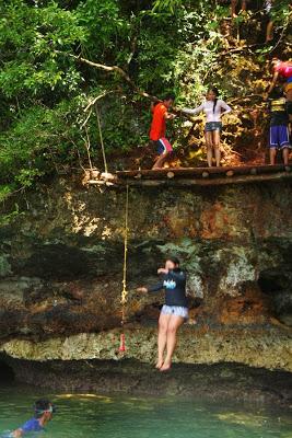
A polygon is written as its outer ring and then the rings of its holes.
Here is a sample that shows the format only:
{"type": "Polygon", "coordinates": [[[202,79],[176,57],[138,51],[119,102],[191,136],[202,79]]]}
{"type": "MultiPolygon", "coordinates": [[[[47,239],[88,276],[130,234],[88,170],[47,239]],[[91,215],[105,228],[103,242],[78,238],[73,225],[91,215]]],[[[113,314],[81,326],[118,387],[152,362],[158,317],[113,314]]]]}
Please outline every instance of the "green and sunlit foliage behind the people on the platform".
{"type": "MultiPolygon", "coordinates": [[[[267,61],[289,58],[289,1],[278,1],[268,46],[262,2],[233,22],[226,3],[1,0],[0,199],[44,175],[87,166],[89,148],[98,164],[97,96],[110,168],[126,152],[140,157],[150,114],[138,89],[159,96],[172,90],[177,105],[192,106],[218,85],[234,108],[226,162],[261,159],[267,61]]],[[[177,119],[171,129],[180,161],[201,160],[202,125],[177,119]]]]}

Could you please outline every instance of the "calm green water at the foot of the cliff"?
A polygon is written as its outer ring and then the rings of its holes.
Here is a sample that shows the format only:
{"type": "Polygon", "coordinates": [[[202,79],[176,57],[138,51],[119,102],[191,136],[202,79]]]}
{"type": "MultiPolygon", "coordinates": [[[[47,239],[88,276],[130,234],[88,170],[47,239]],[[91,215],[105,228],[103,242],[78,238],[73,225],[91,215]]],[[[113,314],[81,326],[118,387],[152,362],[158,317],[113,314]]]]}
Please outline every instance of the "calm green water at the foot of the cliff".
{"type": "Polygon", "coordinates": [[[0,387],[0,431],[28,419],[33,402],[44,395],[58,408],[46,438],[292,438],[289,410],[185,397],[44,394],[20,385],[0,387]]]}

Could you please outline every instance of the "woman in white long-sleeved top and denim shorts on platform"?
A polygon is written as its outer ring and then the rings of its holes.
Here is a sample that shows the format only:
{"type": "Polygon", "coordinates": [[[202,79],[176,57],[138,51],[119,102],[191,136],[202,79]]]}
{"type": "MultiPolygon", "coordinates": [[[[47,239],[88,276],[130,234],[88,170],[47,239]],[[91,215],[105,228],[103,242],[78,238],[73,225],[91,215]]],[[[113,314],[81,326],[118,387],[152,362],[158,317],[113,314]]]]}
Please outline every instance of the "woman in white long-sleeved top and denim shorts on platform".
{"type": "Polygon", "coordinates": [[[220,134],[222,130],[221,117],[231,112],[231,107],[221,99],[218,99],[218,89],[208,90],[206,101],[197,108],[184,108],[183,113],[195,115],[199,113],[206,114],[205,138],[207,146],[208,166],[212,166],[213,154],[215,164],[219,168],[221,162],[220,134]]]}

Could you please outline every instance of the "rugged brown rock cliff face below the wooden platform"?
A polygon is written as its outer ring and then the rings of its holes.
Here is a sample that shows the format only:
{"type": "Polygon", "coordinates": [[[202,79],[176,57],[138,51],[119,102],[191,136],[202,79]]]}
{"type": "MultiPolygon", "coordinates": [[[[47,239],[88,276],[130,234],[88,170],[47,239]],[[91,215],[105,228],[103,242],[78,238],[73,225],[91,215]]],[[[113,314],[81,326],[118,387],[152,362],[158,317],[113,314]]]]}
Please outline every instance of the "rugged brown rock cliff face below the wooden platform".
{"type": "MultiPolygon", "coordinates": [[[[127,357],[152,361],[163,293],[139,296],[165,255],[188,273],[176,360],[292,370],[289,183],[131,189],[127,357]]],[[[0,229],[0,350],[28,360],[117,359],[125,192],[59,180],[0,229]]]]}

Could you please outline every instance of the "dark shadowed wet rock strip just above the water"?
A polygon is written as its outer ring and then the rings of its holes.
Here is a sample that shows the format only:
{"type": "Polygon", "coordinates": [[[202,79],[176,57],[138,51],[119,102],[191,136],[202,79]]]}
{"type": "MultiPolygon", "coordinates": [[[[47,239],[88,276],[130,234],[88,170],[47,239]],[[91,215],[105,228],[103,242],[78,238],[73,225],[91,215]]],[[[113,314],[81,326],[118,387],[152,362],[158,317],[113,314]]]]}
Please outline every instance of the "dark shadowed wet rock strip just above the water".
{"type": "Polygon", "coordinates": [[[135,360],[52,360],[34,362],[1,357],[16,380],[50,391],[190,395],[198,400],[292,406],[292,374],[240,365],[175,365],[161,373],[135,360]]]}

